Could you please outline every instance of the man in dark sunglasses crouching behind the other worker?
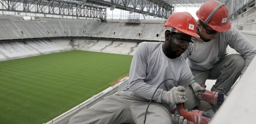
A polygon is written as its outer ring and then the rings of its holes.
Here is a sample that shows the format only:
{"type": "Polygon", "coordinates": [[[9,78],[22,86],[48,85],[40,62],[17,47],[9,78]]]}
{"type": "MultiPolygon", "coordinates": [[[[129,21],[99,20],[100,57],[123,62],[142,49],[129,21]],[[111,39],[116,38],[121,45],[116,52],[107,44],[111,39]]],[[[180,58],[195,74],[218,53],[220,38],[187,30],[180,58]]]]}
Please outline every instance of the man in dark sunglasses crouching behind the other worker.
{"type": "MultiPolygon", "coordinates": [[[[198,91],[207,79],[216,80],[211,91],[228,95],[235,81],[242,76],[256,55],[256,47],[229,22],[229,10],[221,2],[207,1],[196,12],[199,18],[194,42],[182,55],[187,58],[191,72],[195,76],[186,89],[188,101],[185,106],[192,109],[200,104],[196,98],[198,91]],[[239,54],[226,52],[227,46],[239,54]],[[195,94],[195,95],[194,95],[195,94]]],[[[212,105],[214,112],[217,105],[212,105]]]]}

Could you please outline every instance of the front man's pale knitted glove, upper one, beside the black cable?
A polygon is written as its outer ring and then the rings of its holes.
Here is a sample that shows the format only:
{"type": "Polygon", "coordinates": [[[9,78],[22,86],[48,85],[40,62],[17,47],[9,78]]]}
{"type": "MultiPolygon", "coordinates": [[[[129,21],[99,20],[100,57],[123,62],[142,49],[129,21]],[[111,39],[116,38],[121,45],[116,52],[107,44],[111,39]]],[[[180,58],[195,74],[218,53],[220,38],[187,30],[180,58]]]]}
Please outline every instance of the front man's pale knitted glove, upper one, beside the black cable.
{"type": "Polygon", "coordinates": [[[170,91],[167,91],[167,103],[185,103],[188,100],[185,94],[185,88],[183,86],[173,87],[170,91]]]}

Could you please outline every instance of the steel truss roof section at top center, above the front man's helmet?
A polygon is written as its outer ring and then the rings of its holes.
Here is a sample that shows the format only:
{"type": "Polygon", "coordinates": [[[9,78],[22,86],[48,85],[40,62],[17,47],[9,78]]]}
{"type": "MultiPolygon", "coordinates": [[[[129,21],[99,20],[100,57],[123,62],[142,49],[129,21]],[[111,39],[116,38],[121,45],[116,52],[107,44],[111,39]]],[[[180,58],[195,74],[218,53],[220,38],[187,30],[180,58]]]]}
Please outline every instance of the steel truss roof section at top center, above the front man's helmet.
{"type": "MultiPolygon", "coordinates": [[[[94,6],[110,7],[167,19],[174,7],[200,7],[209,0],[79,0],[94,6]]],[[[217,0],[226,3],[226,0],[217,0]]]]}

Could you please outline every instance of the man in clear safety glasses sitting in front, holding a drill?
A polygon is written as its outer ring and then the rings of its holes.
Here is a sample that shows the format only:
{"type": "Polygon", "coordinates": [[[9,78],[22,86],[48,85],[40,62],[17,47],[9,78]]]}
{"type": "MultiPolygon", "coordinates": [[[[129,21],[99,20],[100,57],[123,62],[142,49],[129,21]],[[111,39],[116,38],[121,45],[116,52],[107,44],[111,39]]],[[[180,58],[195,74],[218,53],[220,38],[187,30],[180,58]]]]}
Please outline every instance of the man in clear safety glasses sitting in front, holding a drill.
{"type": "MultiPolygon", "coordinates": [[[[164,26],[164,43],[139,43],[124,89],[75,114],[69,124],[172,123],[171,114],[187,100],[185,88],[194,79],[181,54],[193,43],[191,37],[199,36],[188,12],[171,14],[164,26]]],[[[174,118],[175,124],[187,124],[182,116],[174,118]]]]}

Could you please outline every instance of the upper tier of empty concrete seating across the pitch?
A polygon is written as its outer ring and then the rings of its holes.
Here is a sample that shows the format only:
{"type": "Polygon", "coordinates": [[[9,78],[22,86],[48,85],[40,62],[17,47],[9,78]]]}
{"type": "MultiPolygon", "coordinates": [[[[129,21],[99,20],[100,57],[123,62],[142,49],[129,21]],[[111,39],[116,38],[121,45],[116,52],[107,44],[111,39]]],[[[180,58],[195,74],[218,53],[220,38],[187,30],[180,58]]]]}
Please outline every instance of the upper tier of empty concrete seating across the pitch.
{"type": "Polygon", "coordinates": [[[100,22],[87,19],[0,19],[0,40],[50,37],[99,37],[161,41],[163,24],[100,22]],[[160,36],[160,37],[159,37],[160,36]]]}

